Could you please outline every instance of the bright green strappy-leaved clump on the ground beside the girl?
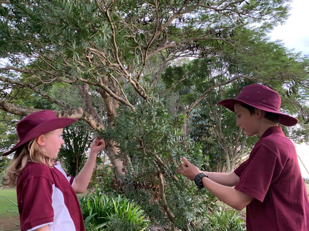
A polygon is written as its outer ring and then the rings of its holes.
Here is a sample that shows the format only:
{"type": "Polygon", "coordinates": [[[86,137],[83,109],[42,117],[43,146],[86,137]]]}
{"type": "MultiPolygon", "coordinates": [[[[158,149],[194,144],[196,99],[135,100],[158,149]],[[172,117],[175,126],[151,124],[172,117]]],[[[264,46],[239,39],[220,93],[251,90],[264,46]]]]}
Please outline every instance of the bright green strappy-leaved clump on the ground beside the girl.
{"type": "Polygon", "coordinates": [[[108,198],[100,190],[80,199],[86,230],[142,231],[149,224],[138,205],[122,195],[108,198]]]}

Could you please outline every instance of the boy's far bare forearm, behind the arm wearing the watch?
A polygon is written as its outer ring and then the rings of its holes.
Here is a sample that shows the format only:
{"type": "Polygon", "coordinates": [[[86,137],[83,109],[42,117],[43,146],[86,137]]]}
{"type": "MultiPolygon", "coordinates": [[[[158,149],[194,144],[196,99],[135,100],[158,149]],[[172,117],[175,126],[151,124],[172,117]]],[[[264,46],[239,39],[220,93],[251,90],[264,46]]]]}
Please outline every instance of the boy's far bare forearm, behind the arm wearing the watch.
{"type": "Polygon", "coordinates": [[[210,180],[225,186],[233,187],[239,182],[239,176],[235,172],[204,172],[210,180]]]}

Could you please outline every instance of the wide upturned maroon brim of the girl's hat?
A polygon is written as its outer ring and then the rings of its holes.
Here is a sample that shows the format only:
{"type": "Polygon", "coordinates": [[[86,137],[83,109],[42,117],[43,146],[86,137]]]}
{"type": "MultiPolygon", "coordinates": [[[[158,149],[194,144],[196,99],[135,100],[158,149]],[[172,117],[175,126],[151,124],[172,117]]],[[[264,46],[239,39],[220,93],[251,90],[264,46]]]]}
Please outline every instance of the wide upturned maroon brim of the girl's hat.
{"type": "Polygon", "coordinates": [[[33,128],[26,136],[23,137],[22,140],[19,140],[19,142],[15,145],[14,148],[12,148],[10,151],[3,153],[3,156],[7,156],[11,154],[12,152],[16,151],[20,146],[27,143],[30,140],[33,140],[34,138],[43,135],[47,132],[54,131],[59,128],[64,128],[72,123],[77,121],[77,119],[73,118],[55,118],[53,120],[49,120],[47,122],[43,122],[39,125],[37,125],[35,128],[33,128]]]}

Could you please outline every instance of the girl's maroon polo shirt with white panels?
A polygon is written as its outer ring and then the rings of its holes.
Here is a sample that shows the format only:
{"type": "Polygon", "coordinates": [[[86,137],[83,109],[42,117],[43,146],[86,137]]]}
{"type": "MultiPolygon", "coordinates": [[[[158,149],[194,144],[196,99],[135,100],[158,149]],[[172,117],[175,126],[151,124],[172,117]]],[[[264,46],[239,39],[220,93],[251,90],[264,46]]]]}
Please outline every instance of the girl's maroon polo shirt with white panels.
{"type": "Polygon", "coordinates": [[[50,231],[85,231],[73,184],[59,162],[53,168],[28,162],[16,185],[21,230],[48,225],[50,231]]]}

